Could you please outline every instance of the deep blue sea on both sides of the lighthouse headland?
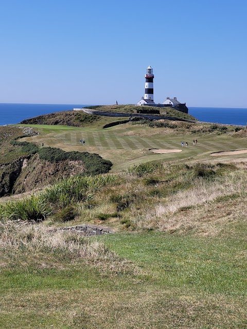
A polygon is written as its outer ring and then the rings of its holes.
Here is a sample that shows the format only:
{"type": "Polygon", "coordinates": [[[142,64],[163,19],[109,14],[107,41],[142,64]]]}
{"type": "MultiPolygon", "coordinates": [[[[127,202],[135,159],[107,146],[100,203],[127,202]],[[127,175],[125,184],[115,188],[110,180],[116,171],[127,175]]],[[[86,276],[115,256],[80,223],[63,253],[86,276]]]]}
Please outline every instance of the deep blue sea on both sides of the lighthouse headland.
{"type": "MultiPolygon", "coordinates": [[[[68,111],[89,104],[11,104],[0,103],[0,125],[20,123],[42,114],[68,111]]],[[[247,123],[247,108],[189,107],[189,114],[200,121],[239,124],[247,123]]]]}

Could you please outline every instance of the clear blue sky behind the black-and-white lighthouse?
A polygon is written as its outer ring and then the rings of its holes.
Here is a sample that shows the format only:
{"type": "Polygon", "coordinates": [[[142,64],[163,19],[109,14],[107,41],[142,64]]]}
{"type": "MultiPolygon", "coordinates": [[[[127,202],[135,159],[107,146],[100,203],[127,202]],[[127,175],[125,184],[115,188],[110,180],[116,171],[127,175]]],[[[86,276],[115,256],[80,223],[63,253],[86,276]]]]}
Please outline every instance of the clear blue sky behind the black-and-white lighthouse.
{"type": "Polygon", "coordinates": [[[246,0],[0,1],[0,102],[247,107],[246,0]]]}

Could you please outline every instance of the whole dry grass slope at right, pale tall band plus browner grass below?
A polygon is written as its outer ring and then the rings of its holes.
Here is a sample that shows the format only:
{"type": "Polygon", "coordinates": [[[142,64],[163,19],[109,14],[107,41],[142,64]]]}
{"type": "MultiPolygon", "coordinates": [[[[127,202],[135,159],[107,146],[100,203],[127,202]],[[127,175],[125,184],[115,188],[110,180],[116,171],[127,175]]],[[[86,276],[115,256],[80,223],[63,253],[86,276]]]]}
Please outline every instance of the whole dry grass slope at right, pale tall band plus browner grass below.
{"type": "Polygon", "coordinates": [[[155,228],[162,231],[188,232],[215,235],[225,222],[234,221],[239,211],[247,209],[244,197],[247,191],[245,171],[229,173],[216,181],[197,179],[188,190],[164,198],[162,202],[143,205],[142,209],[132,207],[132,220],[137,228],[155,228]],[[230,199],[218,203],[217,199],[230,195],[230,199]],[[231,195],[242,197],[231,200],[231,195]]]}

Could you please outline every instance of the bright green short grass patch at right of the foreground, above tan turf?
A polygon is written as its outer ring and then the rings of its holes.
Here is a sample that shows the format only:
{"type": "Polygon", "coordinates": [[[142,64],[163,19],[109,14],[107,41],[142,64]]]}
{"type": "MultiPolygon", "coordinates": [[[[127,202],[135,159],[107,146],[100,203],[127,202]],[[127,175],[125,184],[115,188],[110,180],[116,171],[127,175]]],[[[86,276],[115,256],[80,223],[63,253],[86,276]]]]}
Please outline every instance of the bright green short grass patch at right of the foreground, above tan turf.
{"type": "Polygon", "coordinates": [[[120,257],[145,268],[152,284],[158,287],[193,287],[204,293],[247,297],[247,265],[242,263],[244,240],[149,232],[111,235],[103,241],[120,257]]]}

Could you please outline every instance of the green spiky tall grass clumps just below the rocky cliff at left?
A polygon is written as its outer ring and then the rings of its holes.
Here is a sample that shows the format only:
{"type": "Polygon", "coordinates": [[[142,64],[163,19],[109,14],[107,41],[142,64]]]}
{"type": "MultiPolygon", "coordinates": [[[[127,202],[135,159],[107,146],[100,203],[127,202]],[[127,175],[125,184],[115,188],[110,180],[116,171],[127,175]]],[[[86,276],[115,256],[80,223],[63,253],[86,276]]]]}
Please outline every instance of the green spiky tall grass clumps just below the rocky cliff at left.
{"type": "MultiPolygon", "coordinates": [[[[57,212],[58,209],[64,209],[77,202],[89,201],[95,191],[110,184],[115,179],[116,176],[114,175],[79,175],[61,179],[39,195],[1,204],[0,219],[43,221],[47,216],[57,212]]],[[[64,214],[61,218],[63,218],[62,221],[66,221],[64,214]]]]}

